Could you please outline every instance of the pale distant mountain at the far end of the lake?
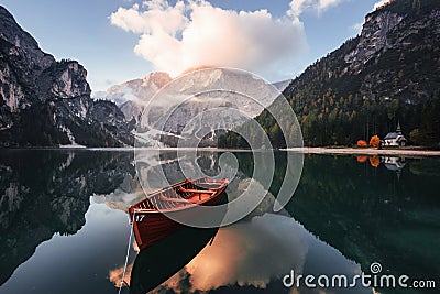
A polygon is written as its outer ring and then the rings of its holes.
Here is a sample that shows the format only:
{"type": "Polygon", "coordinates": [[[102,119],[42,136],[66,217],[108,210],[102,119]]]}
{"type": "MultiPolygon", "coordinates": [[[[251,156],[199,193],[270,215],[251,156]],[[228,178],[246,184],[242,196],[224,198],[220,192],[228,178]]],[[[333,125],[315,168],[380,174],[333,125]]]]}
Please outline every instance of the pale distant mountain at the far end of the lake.
{"type": "MultiPolygon", "coordinates": [[[[166,73],[151,73],[143,79],[134,79],[112,86],[106,92],[99,92],[95,97],[114,101],[127,120],[134,119],[136,121],[138,129],[141,132],[144,132],[146,128],[148,134],[144,133],[143,135],[145,144],[161,145],[165,143],[175,145],[176,135],[182,134],[188,121],[207,109],[228,105],[242,110],[249,117],[255,117],[263,110],[263,107],[257,102],[243,97],[235,97],[228,91],[229,89],[240,89],[241,92],[245,94],[253,92],[252,96],[257,97],[257,100],[267,107],[274,101],[278,90],[285,89],[290,81],[275,83],[272,87],[246,73],[222,68],[202,68],[201,70],[187,72],[173,81],[166,73]],[[161,89],[163,90],[160,91],[161,89]],[[200,95],[200,92],[213,89],[223,89],[224,91],[215,95],[200,95]],[[157,95],[157,97],[152,101],[154,95],[157,95]],[[174,110],[173,113],[167,113],[167,110],[170,109],[169,101],[173,101],[175,96],[180,95],[188,97],[195,95],[198,99],[183,102],[178,106],[178,111],[174,110]],[[150,110],[151,115],[145,115],[142,119],[141,113],[148,105],[153,108],[150,110]],[[161,118],[165,117],[167,117],[167,122],[163,123],[161,118]],[[163,126],[160,126],[161,123],[163,126]]],[[[233,126],[243,122],[242,118],[239,117],[231,117],[230,120],[231,122],[234,121],[233,126]]],[[[204,123],[212,129],[212,132],[208,135],[210,137],[209,142],[206,143],[211,145],[216,141],[219,132],[213,131],[215,127],[223,122],[219,121],[217,117],[204,116],[204,123]]],[[[136,134],[139,135],[139,133],[136,134]]]]}

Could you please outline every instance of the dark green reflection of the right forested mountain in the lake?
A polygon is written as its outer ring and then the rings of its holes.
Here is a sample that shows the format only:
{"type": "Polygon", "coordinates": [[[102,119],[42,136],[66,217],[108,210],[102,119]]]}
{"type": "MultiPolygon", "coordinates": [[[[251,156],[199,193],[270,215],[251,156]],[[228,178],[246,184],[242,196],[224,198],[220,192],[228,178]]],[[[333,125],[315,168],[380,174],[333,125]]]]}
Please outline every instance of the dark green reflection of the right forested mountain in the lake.
{"type": "Polygon", "coordinates": [[[398,181],[387,166],[310,156],[287,210],[365,272],[380,262],[394,274],[438,277],[440,198],[433,183],[440,179],[440,161],[407,165],[398,181]]]}

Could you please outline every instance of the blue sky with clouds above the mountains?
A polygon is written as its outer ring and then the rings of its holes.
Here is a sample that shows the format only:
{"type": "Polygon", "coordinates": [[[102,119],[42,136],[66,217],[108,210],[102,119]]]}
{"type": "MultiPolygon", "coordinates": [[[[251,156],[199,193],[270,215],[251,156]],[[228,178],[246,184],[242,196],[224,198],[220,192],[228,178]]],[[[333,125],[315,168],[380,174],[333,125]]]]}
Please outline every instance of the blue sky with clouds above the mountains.
{"type": "Polygon", "coordinates": [[[294,78],[361,32],[384,0],[0,0],[56,59],[88,72],[92,91],[151,72],[199,66],[294,78]]]}

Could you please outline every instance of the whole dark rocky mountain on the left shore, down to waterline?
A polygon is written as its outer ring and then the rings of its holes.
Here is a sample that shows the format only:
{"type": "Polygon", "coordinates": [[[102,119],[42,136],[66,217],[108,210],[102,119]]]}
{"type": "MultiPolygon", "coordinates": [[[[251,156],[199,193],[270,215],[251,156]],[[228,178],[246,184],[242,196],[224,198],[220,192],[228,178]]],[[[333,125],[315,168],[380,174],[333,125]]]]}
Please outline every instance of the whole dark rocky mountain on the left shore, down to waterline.
{"type": "Polygon", "coordinates": [[[112,102],[90,98],[87,70],[61,62],[0,7],[0,145],[122,146],[130,124],[112,102]]]}

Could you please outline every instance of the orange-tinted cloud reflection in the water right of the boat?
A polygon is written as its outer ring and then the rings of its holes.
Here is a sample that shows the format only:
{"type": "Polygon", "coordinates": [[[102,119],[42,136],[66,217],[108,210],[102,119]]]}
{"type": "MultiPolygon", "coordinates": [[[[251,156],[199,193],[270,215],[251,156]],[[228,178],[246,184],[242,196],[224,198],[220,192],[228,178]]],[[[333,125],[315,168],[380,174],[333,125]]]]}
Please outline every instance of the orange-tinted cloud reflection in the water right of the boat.
{"type": "Polygon", "coordinates": [[[207,246],[183,271],[153,293],[209,292],[226,285],[266,288],[292,269],[298,273],[308,252],[307,232],[292,218],[264,215],[251,222],[222,228],[215,246],[207,246]],[[276,224],[276,225],[275,225],[276,224]],[[271,249],[268,251],[267,249],[271,249]],[[188,281],[187,283],[182,283],[188,281]]]}

